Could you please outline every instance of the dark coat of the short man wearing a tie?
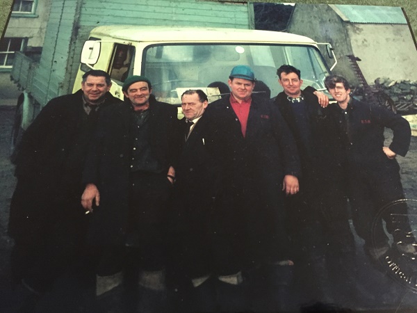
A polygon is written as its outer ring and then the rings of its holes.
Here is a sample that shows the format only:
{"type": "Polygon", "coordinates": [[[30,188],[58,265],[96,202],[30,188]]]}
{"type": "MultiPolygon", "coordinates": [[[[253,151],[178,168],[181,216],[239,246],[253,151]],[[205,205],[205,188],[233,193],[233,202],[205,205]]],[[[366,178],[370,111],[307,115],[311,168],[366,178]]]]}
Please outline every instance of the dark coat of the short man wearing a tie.
{"type": "MultiPolygon", "coordinates": [[[[191,278],[213,268],[213,206],[220,186],[220,164],[213,154],[211,120],[204,113],[186,140],[186,120],[181,120],[183,140],[175,164],[172,234],[179,268],[191,278]]],[[[177,266],[178,267],[178,266],[177,266]]]]}

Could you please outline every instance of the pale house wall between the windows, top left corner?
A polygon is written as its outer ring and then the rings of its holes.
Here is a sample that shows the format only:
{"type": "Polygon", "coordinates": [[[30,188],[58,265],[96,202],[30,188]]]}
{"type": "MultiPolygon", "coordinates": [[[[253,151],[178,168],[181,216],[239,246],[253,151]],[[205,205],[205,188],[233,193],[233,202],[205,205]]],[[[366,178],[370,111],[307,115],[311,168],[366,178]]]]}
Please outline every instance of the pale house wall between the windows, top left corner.
{"type": "Polygon", "coordinates": [[[42,47],[52,0],[38,0],[33,15],[12,13],[4,37],[27,37],[28,47],[42,47]]]}

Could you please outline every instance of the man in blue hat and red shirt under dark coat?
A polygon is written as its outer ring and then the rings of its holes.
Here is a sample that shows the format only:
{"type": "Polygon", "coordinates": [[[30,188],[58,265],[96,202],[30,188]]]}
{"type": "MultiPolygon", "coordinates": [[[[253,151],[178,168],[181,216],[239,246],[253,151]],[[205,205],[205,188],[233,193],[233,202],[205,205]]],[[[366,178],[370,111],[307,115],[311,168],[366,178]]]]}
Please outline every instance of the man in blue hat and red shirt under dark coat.
{"type": "MultiPolygon", "coordinates": [[[[215,234],[215,271],[222,310],[275,311],[280,293],[274,285],[291,272],[284,231],[286,195],[298,192],[300,161],[291,131],[276,106],[252,94],[256,83],[247,65],[237,65],[229,76],[231,94],[208,105],[213,145],[222,186],[212,220],[215,234]],[[261,266],[268,273],[259,297],[245,296],[245,273],[261,266]],[[279,276],[279,278],[277,277],[279,276]],[[269,291],[274,291],[267,296],[269,291]],[[268,297],[268,298],[265,298],[268,297]],[[247,303],[250,300],[251,303],[247,303]],[[246,301],[246,304],[245,304],[246,301]]],[[[255,284],[248,280],[249,284],[255,284]]]]}

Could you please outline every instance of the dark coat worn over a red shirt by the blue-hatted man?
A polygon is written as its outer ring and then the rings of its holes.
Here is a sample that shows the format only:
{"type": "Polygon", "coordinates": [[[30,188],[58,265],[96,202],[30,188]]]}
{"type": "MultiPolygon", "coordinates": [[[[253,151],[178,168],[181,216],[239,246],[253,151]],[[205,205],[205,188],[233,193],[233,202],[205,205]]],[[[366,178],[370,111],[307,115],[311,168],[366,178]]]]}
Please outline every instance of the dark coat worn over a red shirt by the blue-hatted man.
{"type": "Polygon", "coordinates": [[[241,248],[250,258],[269,257],[272,250],[275,259],[287,257],[281,189],[284,175],[300,176],[295,141],[277,106],[254,95],[244,137],[229,99],[209,104],[206,111],[222,173],[219,214],[224,223],[218,232],[235,229],[241,236],[231,234],[231,240],[236,246],[245,242],[241,248]]]}

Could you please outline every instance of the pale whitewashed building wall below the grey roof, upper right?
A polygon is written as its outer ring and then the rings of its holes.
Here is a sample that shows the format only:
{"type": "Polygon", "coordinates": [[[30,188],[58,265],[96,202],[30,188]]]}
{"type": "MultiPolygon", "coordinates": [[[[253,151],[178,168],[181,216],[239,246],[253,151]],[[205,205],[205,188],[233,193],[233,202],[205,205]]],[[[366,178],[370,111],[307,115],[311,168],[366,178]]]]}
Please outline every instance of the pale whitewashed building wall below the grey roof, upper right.
{"type": "Polygon", "coordinates": [[[417,80],[417,53],[407,25],[347,24],[352,49],[368,83],[378,77],[417,80]]]}

